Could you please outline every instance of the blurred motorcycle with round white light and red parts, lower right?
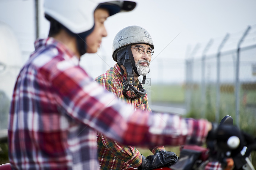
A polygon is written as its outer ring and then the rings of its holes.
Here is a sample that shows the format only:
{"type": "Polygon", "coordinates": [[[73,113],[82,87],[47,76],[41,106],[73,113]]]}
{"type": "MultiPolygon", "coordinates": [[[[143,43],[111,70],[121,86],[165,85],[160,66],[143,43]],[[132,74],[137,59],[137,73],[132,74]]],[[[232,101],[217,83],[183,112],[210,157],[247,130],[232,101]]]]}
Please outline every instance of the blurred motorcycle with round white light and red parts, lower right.
{"type": "MultiPolygon", "coordinates": [[[[233,125],[233,118],[225,116],[220,125],[233,125]]],[[[255,170],[252,165],[251,152],[256,150],[256,138],[245,133],[243,136],[243,139],[231,136],[224,143],[208,140],[207,148],[197,145],[182,145],[176,164],[154,170],[204,170],[210,161],[220,162],[224,165],[225,170],[255,170]],[[238,148],[242,140],[246,140],[247,146],[238,148]]],[[[11,170],[10,163],[0,165],[0,170],[11,170]]],[[[134,169],[130,168],[129,170],[134,169]]]]}

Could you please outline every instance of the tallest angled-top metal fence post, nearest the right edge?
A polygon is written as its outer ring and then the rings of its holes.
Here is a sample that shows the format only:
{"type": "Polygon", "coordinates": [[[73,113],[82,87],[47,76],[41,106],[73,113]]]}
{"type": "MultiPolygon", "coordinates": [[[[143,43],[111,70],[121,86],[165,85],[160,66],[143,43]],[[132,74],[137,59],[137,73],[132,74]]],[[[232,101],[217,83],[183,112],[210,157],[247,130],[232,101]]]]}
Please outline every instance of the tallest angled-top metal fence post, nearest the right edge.
{"type": "Polygon", "coordinates": [[[239,110],[240,110],[240,95],[239,95],[239,92],[240,92],[240,82],[239,82],[240,46],[250,29],[251,29],[251,26],[248,26],[247,29],[244,31],[244,33],[237,45],[237,59],[236,59],[236,72],[235,72],[235,115],[236,115],[236,125],[238,127],[240,127],[240,125],[239,125],[239,121],[240,121],[240,116],[239,116],[239,110]]]}

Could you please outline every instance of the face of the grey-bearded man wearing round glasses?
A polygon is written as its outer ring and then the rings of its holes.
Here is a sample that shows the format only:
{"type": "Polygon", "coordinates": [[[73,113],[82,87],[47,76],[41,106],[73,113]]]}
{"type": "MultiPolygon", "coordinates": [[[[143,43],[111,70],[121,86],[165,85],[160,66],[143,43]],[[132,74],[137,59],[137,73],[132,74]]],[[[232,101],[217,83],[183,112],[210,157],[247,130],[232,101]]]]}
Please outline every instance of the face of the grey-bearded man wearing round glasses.
{"type": "Polygon", "coordinates": [[[137,67],[138,74],[140,75],[146,75],[149,72],[151,56],[149,56],[146,53],[146,51],[149,50],[150,48],[151,48],[150,45],[146,45],[146,44],[131,45],[132,55],[137,67]],[[145,48],[145,52],[143,54],[139,53],[137,48],[134,48],[134,47],[140,47],[140,46],[143,46],[145,48]]]}

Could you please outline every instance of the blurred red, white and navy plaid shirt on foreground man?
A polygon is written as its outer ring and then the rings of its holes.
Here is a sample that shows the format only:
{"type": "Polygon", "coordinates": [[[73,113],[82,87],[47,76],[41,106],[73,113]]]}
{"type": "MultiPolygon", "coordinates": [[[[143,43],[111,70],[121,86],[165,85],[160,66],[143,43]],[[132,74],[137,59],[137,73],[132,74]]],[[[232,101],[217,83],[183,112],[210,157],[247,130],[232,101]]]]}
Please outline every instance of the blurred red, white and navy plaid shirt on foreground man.
{"type": "Polygon", "coordinates": [[[13,169],[99,169],[96,131],[133,146],[200,144],[207,120],[132,109],[94,82],[53,38],[35,42],[11,101],[13,169]]]}

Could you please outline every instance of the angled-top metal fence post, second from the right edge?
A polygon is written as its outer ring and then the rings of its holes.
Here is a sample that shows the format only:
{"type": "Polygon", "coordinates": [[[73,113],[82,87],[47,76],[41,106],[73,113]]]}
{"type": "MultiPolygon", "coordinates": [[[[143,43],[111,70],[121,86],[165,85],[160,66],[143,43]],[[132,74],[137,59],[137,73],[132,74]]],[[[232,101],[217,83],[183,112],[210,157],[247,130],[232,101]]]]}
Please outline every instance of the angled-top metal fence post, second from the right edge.
{"type": "Polygon", "coordinates": [[[227,33],[224,39],[222,40],[220,46],[218,47],[218,53],[217,53],[216,113],[215,113],[216,122],[219,122],[219,110],[220,110],[220,56],[221,56],[221,49],[224,47],[224,44],[227,42],[228,38],[229,38],[229,33],[227,33]]]}

